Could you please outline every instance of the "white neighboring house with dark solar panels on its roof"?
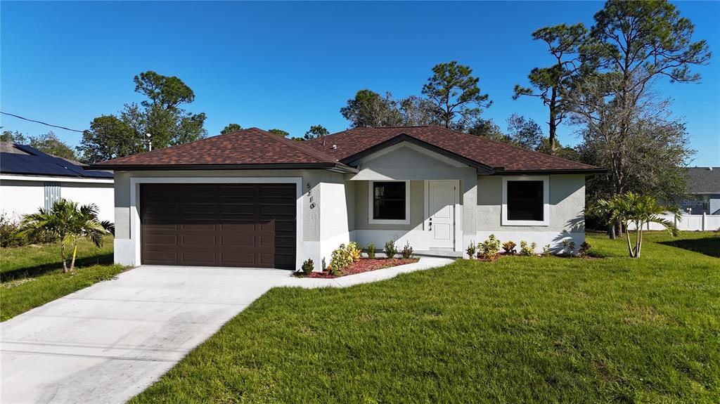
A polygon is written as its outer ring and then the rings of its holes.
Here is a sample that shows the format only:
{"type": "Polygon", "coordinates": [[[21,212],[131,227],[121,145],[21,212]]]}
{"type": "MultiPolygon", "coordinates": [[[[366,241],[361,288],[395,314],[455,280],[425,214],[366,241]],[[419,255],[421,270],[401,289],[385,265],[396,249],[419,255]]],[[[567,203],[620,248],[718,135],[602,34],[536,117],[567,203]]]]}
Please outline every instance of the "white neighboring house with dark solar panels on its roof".
{"type": "Polygon", "coordinates": [[[85,170],[80,162],[0,142],[1,214],[19,220],[37,208],[50,208],[60,198],[95,203],[99,219],[114,220],[112,172],[85,170]]]}

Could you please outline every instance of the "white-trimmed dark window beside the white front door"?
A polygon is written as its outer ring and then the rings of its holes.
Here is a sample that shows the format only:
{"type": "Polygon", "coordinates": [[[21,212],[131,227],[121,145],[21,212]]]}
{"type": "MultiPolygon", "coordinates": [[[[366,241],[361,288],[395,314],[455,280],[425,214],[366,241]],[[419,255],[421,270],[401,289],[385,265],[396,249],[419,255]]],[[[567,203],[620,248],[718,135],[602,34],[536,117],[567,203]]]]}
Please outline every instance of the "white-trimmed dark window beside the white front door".
{"type": "Polygon", "coordinates": [[[408,193],[405,181],[370,183],[370,223],[408,224],[408,193]]]}

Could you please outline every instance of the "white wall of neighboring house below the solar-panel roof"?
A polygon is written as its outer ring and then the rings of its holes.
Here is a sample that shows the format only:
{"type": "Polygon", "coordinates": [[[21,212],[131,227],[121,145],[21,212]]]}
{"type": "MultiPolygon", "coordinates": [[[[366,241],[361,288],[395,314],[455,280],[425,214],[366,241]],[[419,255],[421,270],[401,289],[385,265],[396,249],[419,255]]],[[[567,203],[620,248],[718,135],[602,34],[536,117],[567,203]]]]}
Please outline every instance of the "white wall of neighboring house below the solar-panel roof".
{"type": "Polygon", "coordinates": [[[0,178],[0,211],[12,220],[45,207],[45,183],[59,183],[60,197],[81,205],[95,203],[100,220],[114,220],[112,180],[46,178],[3,175],[0,178]]]}

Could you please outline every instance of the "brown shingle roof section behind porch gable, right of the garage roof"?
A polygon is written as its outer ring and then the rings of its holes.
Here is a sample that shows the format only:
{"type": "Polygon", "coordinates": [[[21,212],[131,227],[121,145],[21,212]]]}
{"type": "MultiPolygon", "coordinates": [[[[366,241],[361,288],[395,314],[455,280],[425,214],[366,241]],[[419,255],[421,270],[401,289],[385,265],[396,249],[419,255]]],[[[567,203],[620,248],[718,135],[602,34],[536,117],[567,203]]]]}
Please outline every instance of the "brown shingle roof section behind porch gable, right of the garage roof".
{"type": "Polygon", "coordinates": [[[495,170],[505,172],[600,170],[599,167],[593,165],[544,155],[485,137],[433,126],[354,128],[325,136],[324,146],[323,139],[313,139],[307,144],[343,161],[367,150],[369,147],[389,141],[402,134],[441,147],[454,155],[478,162],[481,165],[487,165],[495,170]],[[334,149],[333,144],[336,147],[334,149]]]}

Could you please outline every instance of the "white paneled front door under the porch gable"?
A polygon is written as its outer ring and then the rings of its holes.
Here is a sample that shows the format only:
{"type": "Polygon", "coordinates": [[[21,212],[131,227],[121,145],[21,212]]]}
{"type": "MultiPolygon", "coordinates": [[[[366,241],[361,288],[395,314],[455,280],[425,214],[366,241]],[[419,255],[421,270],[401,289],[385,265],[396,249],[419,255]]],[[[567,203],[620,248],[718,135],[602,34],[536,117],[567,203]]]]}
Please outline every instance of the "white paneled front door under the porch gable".
{"type": "Polygon", "coordinates": [[[428,181],[430,248],[453,248],[455,241],[455,181],[428,181]]]}

